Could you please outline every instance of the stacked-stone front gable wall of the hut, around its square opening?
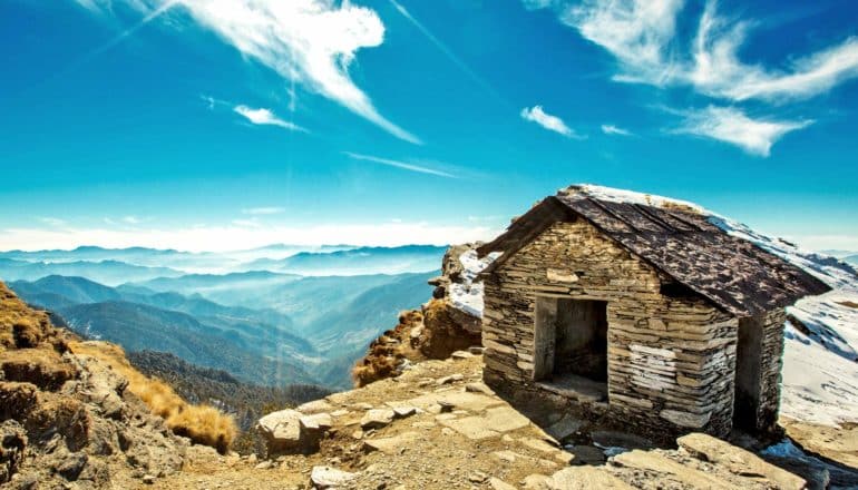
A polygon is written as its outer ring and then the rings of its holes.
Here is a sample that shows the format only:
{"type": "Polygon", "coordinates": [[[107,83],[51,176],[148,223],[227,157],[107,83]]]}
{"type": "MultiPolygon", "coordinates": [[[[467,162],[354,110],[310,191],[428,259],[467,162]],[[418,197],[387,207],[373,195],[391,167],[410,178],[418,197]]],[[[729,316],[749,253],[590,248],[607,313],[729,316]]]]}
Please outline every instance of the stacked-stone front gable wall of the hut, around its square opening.
{"type": "Polygon", "coordinates": [[[738,320],[693,294],[662,295],[669,282],[583,219],[553,225],[485,280],[487,383],[534,389],[537,297],[607,301],[610,416],[725,435],[738,320]]]}

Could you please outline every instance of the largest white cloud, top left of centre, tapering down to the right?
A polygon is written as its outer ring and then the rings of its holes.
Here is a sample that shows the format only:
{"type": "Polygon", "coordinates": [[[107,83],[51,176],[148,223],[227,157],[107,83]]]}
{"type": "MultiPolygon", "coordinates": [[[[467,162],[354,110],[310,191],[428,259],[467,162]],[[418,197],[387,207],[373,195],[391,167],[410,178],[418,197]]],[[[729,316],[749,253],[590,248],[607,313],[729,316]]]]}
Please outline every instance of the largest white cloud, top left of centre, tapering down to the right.
{"type": "Polygon", "coordinates": [[[352,80],[357,52],[380,46],[384,24],[374,10],[333,0],[78,0],[89,10],[109,12],[124,1],[147,14],[184,8],[242,56],[284,80],[334,100],[393,136],[420,139],[382,116],[352,80]]]}

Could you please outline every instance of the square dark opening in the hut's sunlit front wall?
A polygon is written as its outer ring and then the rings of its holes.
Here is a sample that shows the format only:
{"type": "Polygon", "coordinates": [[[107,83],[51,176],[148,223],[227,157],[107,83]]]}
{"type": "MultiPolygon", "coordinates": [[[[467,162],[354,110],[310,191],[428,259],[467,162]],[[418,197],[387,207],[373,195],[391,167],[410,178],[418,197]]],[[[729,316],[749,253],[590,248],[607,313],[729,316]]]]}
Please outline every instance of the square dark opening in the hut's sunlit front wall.
{"type": "Polygon", "coordinates": [[[540,297],[536,304],[534,379],[573,375],[607,381],[607,303],[540,297]]]}

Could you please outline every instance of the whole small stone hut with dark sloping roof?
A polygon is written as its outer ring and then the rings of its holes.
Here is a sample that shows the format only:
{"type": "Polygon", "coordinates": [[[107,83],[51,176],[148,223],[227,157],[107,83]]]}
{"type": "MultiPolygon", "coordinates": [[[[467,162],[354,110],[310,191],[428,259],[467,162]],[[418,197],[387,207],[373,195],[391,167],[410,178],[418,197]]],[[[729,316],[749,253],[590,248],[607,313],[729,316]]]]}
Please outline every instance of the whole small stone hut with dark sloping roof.
{"type": "Polygon", "coordinates": [[[501,253],[487,384],[665,434],[773,429],[784,307],[830,288],[693,206],[604,190],[562,189],[478,249],[501,253]]]}

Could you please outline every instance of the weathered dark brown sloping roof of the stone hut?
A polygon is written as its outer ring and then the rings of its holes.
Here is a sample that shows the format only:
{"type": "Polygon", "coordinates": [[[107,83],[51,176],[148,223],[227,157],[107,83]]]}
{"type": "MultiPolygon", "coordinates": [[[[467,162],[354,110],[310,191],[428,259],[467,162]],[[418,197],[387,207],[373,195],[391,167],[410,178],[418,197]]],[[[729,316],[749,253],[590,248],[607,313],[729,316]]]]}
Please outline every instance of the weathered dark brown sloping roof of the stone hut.
{"type": "MultiPolygon", "coordinates": [[[[574,190],[574,188],[571,188],[574,190]]],[[[683,206],[650,206],[562,190],[533,207],[478,252],[504,252],[490,274],[554,223],[582,217],[677,283],[737,316],[788,306],[830,287],[683,206]]]]}

